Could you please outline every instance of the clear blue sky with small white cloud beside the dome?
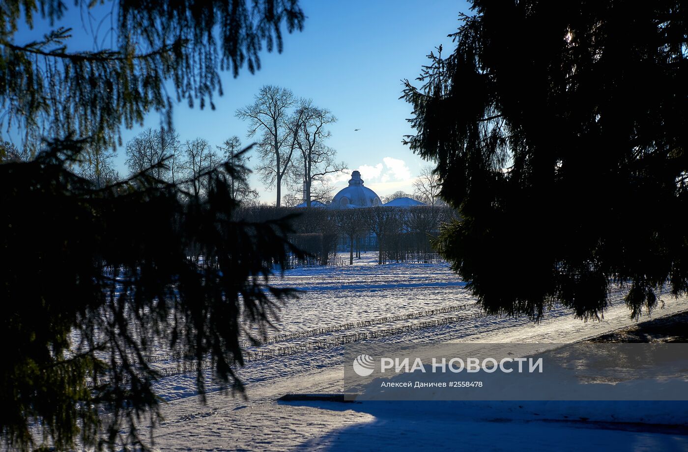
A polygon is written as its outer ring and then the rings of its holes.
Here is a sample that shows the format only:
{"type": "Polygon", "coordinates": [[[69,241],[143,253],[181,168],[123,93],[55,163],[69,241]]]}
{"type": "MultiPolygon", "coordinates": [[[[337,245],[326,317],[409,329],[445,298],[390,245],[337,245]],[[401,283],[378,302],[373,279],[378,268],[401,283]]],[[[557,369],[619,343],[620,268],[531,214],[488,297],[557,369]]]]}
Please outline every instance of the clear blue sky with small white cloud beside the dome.
{"type": "MultiPolygon", "coordinates": [[[[175,106],[173,120],[180,138],[203,137],[217,145],[238,135],[248,144],[246,124],[234,113],[250,104],[262,85],[277,84],[336,115],[329,144],[337,150],[337,160],[345,161],[350,170],[361,170],[366,186],[380,196],[396,190],[412,192],[413,178],[428,163],[401,143],[403,135],[411,133],[406,122],[411,106],[398,99],[400,80],[416,78],[434,47],[453,49],[447,34],[455,32],[459,12],[469,13],[469,5],[450,0],[302,0],[301,8],[307,16],[304,30],[285,35],[281,54],[264,52],[256,74],[246,69],[238,78],[222,74],[224,95],[215,96],[215,111],[189,109],[184,102],[175,106]],[[354,132],[355,128],[361,130],[354,132]]],[[[78,29],[83,28],[80,14],[73,6],[68,14],[65,22],[78,37],[78,29]]],[[[41,36],[45,31],[37,25],[17,37],[41,36]]],[[[78,47],[82,46],[69,45],[78,47]]],[[[144,127],[159,124],[160,115],[151,113],[144,127]]],[[[124,142],[141,130],[123,131],[124,142]]],[[[122,148],[117,157],[122,174],[127,173],[124,160],[122,148]]],[[[338,179],[333,194],[349,178],[338,179]]],[[[261,201],[275,202],[275,190],[268,191],[256,174],[250,183],[259,190],[261,201]]]]}

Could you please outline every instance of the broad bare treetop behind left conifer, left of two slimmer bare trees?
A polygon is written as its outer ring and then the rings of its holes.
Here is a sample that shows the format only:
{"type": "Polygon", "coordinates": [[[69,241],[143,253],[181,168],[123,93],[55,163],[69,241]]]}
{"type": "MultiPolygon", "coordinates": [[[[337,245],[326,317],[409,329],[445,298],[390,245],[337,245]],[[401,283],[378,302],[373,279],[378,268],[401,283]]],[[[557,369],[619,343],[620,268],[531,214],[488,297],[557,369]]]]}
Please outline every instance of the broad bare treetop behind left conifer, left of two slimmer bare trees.
{"type": "Polygon", "coordinates": [[[152,168],[153,176],[174,183],[182,172],[179,134],[174,129],[149,127],[127,142],[125,152],[131,173],[152,168]]]}

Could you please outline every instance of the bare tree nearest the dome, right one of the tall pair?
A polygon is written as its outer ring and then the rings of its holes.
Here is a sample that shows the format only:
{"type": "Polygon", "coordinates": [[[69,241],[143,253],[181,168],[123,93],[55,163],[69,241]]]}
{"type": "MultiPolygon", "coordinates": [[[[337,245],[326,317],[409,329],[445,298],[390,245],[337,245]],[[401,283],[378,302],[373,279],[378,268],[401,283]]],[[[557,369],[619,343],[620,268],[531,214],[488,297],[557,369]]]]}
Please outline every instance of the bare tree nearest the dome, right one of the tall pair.
{"type": "Polygon", "coordinates": [[[297,126],[294,131],[297,137],[299,152],[295,162],[294,180],[303,181],[303,201],[311,207],[312,201],[325,201],[330,196],[327,187],[327,174],[340,172],[346,163],[335,163],[336,150],[325,144],[332,133],[327,126],[334,124],[337,118],[327,109],[314,106],[311,100],[301,100],[301,105],[294,113],[290,124],[297,126]],[[314,187],[314,184],[317,184],[314,187]]]}

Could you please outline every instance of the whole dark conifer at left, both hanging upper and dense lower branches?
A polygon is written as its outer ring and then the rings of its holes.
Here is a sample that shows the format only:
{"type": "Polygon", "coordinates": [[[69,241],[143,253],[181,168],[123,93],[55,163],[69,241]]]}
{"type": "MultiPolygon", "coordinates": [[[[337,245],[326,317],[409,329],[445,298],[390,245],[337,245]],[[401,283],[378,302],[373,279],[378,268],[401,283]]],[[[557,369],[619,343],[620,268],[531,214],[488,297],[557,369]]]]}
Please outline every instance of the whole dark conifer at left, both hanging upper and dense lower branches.
{"type": "Polygon", "coordinates": [[[159,416],[151,352],[192,365],[202,394],[208,368],[241,390],[239,337],[265,334],[292,295],[270,285],[273,264],[303,255],[290,218],[235,218],[229,180],[245,168],[214,161],[169,182],[162,155],[104,183],[73,169],[151,111],[171,130],[175,100],[213,107],[219,71],[259,69],[261,48],[281,50],[282,27],[304,16],[296,0],[122,0],[109,49],[71,52],[60,27],[15,42],[34,14],[56,26],[74,14],[66,3],[0,2],[0,126],[23,144],[0,148],[0,433],[19,450],[145,449],[140,418],[159,416]]]}

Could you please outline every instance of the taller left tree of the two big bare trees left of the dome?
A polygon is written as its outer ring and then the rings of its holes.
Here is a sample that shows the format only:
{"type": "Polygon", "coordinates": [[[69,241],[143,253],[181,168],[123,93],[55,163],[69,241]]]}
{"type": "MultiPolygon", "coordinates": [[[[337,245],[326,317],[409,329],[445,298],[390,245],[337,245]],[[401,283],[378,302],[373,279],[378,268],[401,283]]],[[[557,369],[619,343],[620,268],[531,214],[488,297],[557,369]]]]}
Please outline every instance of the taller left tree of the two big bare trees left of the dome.
{"type": "Polygon", "coordinates": [[[255,95],[253,104],[236,113],[238,118],[248,120],[248,137],[261,134],[257,148],[261,164],[256,169],[268,187],[277,187],[277,207],[282,197],[282,179],[292,170],[296,148],[294,133],[288,126],[289,109],[294,102],[294,94],[289,89],[266,84],[255,95]]]}

